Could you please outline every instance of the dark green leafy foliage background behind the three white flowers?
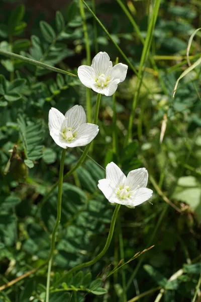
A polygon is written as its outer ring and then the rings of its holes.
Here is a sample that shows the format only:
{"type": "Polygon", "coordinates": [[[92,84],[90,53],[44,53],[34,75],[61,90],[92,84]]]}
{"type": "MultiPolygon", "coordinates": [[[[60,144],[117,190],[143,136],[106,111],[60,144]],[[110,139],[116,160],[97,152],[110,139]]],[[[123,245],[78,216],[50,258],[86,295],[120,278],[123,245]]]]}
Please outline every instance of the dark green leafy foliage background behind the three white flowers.
{"type": "MultiPolygon", "coordinates": [[[[12,286],[1,285],[38,268],[49,255],[57,190],[47,200],[44,197],[58,180],[62,150],[49,135],[48,112],[56,107],[65,113],[75,104],[88,111],[87,96],[91,97],[94,115],[96,94],[91,91],[86,95],[79,79],[65,74],[77,74],[77,67],[87,63],[86,29],[91,58],[98,49],[108,52],[113,62],[119,57],[120,62],[127,63],[117,44],[141,72],[143,83],[137,90],[139,79],[129,67],[116,93],[116,127],[113,98],[102,97],[100,130],[89,151],[90,158],[63,185],[51,284],[69,268],[91,260],[105,245],[114,207],[98,190],[97,182],[105,177],[104,168],[109,162],[114,161],[126,174],[146,167],[148,187],[154,194],[152,204],[146,202],[135,209],[121,207],[106,255],[92,267],[52,287],[50,302],[199,301],[200,67],[179,82],[174,99],[172,94],[176,80],[188,67],[187,43],[201,26],[201,4],[194,0],[160,2],[142,66],[142,42],[149,35],[154,1],[87,4],[93,10],[95,4],[95,14],[110,37],[85,7],[83,22],[78,0],[63,3],[54,15],[46,13],[48,6],[39,13],[34,11],[34,4],[0,1],[0,300],[45,299],[47,266],[12,286]],[[135,21],[135,28],[122,4],[135,21]],[[55,66],[64,74],[5,56],[1,50],[55,66]],[[132,139],[126,143],[136,93],[132,139]],[[166,129],[160,143],[162,124],[166,129]],[[114,131],[118,148],[114,146],[114,131]],[[136,253],[153,245],[133,259],[136,253]]],[[[192,42],[191,63],[200,56],[200,37],[197,32],[192,42]]],[[[81,151],[67,150],[65,173],[77,163],[81,151]]]]}

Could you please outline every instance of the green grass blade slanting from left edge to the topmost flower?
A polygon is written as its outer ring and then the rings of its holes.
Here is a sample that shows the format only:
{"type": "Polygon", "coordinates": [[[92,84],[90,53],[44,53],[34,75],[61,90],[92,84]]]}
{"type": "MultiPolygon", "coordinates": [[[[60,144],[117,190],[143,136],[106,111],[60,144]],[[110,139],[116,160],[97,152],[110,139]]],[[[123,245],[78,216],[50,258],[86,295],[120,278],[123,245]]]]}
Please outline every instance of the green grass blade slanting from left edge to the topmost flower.
{"type": "Polygon", "coordinates": [[[59,68],[56,68],[56,67],[53,67],[53,66],[41,63],[39,61],[36,61],[36,60],[30,59],[30,58],[24,57],[24,56],[22,56],[20,54],[16,54],[16,53],[13,53],[13,52],[5,51],[5,50],[2,50],[2,49],[0,49],[0,54],[1,55],[5,55],[5,56],[10,57],[10,58],[14,58],[14,59],[18,59],[18,60],[30,63],[32,65],[36,65],[36,66],[42,67],[42,68],[45,68],[45,69],[49,69],[49,70],[52,70],[52,71],[55,71],[55,72],[59,72],[59,73],[63,73],[63,74],[68,74],[68,75],[72,75],[73,77],[76,77],[76,75],[73,74],[73,73],[71,73],[71,72],[68,72],[68,71],[65,71],[65,70],[62,70],[62,69],[59,69],[59,68]]]}

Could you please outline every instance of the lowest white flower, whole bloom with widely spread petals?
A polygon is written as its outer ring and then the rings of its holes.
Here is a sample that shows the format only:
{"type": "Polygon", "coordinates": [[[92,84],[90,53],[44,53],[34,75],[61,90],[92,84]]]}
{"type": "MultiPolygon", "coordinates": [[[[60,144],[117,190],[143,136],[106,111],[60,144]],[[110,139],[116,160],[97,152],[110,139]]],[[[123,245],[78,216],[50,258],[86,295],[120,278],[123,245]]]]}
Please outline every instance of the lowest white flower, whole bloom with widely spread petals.
{"type": "Polygon", "coordinates": [[[145,168],[132,170],[126,177],[112,162],[106,167],[106,179],[100,179],[97,186],[111,203],[135,207],[152,196],[153,191],[146,188],[147,181],[145,168]]]}

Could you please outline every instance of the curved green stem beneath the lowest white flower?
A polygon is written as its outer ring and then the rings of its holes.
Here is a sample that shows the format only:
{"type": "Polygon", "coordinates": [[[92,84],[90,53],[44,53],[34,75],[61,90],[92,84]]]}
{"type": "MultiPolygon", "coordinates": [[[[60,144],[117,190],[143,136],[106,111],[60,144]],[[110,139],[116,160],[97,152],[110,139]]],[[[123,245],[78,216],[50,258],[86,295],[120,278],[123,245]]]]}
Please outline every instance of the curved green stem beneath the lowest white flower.
{"type": "Polygon", "coordinates": [[[80,264],[74,266],[73,268],[71,268],[66,274],[64,274],[64,276],[62,278],[60,278],[58,281],[56,281],[54,283],[54,286],[56,284],[61,283],[63,280],[65,280],[65,278],[69,274],[74,273],[75,271],[80,270],[84,267],[93,265],[95,262],[97,262],[100,258],[102,258],[105,255],[105,253],[107,252],[107,250],[108,250],[108,248],[111,244],[112,238],[113,238],[113,233],[114,233],[114,229],[115,229],[115,222],[116,222],[116,219],[117,219],[117,215],[118,215],[118,211],[120,209],[120,206],[121,206],[121,204],[117,204],[116,208],[115,208],[115,211],[113,213],[113,217],[112,217],[112,221],[111,221],[111,225],[110,225],[110,231],[109,231],[108,238],[107,238],[104,249],[92,260],[84,262],[84,263],[80,263],[80,264]]]}

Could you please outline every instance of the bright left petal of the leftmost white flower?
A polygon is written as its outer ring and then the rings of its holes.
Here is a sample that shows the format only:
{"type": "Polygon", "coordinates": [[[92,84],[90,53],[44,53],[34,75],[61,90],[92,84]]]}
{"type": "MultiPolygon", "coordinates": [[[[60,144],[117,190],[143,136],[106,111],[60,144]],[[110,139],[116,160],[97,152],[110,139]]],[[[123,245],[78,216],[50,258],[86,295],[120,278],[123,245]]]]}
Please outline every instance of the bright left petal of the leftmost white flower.
{"type": "Polygon", "coordinates": [[[65,116],[56,108],[51,108],[49,111],[48,126],[50,131],[56,133],[60,131],[61,125],[65,119],[65,116]]]}

